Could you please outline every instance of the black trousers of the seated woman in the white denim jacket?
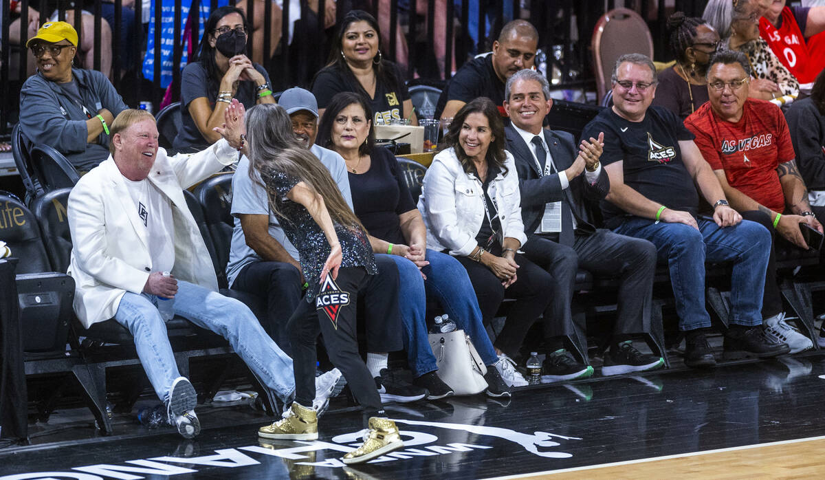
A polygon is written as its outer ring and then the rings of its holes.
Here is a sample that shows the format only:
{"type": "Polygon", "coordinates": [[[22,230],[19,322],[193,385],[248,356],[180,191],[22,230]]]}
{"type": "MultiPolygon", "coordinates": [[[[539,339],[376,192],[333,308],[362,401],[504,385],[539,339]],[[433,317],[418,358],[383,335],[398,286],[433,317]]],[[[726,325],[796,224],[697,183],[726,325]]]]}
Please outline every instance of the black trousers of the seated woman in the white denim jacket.
{"type": "Polygon", "coordinates": [[[516,299],[516,303],[507,313],[507,321],[504,322],[502,332],[493,342],[493,346],[498,350],[515,356],[530,326],[544,312],[552,298],[549,291],[552,288],[553,279],[525,256],[516,254],[516,263],[519,265],[516,271],[516,283],[505,289],[502,286],[502,280],[498,280],[488,267],[466,256],[456,256],[456,258],[467,269],[469,281],[473,284],[475,295],[479,299],[484,323],[493,320],[503,299],[516,299]]]}

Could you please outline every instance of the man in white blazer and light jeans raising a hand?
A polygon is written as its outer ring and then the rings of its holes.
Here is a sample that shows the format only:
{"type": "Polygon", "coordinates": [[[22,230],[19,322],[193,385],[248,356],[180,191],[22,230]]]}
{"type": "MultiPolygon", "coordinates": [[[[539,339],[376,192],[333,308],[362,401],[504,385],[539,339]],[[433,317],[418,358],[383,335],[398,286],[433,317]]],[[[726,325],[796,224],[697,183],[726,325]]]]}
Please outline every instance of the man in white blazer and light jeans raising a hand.
{"type": "MultiPolygon", "coordinates": [[[[285,403],[295,393],[290,357],[249,308],[218,293],[209,252],[182,193],[238,158],[243,106],[233,101],[224,119],[223,139],[195,155],[170,158],[158,149],[151,114],[121,112],[111,125],[111,156],[83,176],[68,198],[75,313],[84,327],[115,318],[129,329],[170,423],[186,438],[200,432],[197,397],[178,373],[158,311],[166,299],[174,299],[175,314],[229,340],[285,403]]],[[[325,375],[324,384],[334,386],[334,375],[325,375]]]]}

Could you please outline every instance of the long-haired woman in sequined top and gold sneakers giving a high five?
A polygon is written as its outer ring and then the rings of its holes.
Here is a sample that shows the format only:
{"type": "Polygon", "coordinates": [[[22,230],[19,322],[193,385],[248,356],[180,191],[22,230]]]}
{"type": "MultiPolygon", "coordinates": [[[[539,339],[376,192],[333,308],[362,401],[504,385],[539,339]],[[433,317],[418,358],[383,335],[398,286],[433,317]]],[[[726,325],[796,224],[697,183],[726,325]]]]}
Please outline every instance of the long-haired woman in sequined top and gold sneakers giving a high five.
{"type": "MultiPolygon", "coordinates": [[[[264,426],[258,435],[281,440],[318,439],[315,398],[315,340],[323,335],[332,364],[341,370],[364,409],[369,432],[360,448],[344,455],[357,464],[403,447],[398,427],[384,417],[375,381],[358,355],[356,304],[366,275],[374,275],[375,257],[364,227],[347,206],[326,167],[295,140],[290,148],[273,146],[291,132],[289,115],[280,106],[257,106],[247,113],[250,158],[263,180],[272,212],[281,219],[286,237],[298,248],[304,278],[304,299],[287,329],[293,349],[295,402],[281,421],[264,426]]],[[[280,142],[278,144],[281,144],[280,142]]]]}

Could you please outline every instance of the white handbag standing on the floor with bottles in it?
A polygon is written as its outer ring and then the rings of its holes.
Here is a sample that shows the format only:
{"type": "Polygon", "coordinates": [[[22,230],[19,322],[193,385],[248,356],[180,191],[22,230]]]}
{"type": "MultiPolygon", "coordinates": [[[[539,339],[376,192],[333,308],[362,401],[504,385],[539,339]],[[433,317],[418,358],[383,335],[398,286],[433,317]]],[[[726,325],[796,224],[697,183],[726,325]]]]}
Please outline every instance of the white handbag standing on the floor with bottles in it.
{"type": "Polygon", "coordinates": [[[475,351],[464,330],[429,334],[430,347],[436,355],[438,378],[452,388],[455,395],[475,395],[487,389],[487,366],[475,351]]]}

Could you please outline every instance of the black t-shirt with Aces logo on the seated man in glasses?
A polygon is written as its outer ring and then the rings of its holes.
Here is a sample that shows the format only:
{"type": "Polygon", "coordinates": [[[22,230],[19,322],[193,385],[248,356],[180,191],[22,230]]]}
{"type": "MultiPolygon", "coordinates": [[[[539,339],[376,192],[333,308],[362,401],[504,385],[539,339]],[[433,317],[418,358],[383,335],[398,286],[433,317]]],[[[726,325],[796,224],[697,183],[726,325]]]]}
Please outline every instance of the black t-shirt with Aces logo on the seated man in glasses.
{"type": "MultiPolygon", "coordinates": [[[[610,165],[624,160],[625,185],[649,200],[696,214],[699,194],[679,149],[680,140],[695,137],[676,114],[651,106],[644,120],[631,122],[606,108],[584,127],[582,139],[597,138],[599,132],[605,133],[601,162],[610,165]]],[[[601,201],[601,210],[608,228],[615,228],[626,215],[606,200],[601,201]]]]}

